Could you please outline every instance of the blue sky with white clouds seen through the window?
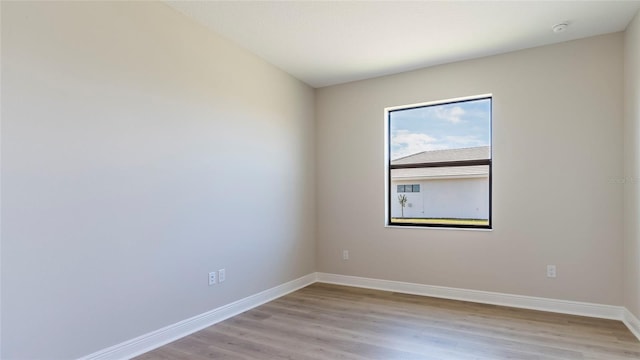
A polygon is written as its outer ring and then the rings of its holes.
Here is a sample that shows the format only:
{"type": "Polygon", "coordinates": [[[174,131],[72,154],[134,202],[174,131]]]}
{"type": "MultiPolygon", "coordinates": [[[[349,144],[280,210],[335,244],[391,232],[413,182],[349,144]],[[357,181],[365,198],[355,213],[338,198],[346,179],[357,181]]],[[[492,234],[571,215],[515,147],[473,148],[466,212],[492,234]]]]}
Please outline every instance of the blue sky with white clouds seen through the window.
{"type": "Polygon", "coordinates": [[[479,99],[389,113],[391,159],[443,149],[491,145],[491,100],[479,99]]]}

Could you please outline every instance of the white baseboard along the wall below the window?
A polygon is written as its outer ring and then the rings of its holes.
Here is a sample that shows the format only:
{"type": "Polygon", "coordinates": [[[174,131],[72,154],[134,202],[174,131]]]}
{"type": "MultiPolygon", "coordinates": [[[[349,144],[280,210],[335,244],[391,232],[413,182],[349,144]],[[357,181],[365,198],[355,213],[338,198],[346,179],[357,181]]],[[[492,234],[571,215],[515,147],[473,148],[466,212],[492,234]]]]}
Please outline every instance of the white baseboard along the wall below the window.
{"type": "MultiPolygon", "coordinates": [[[[533,296],[467,290],[445,286],[423,285],[327,273],[318,273],[318,282],[612,320],[623,320],[623,311],[626,310],[621,306],[547,299],[533,296]]],[[[640,323],[636,323],[636,325],[640,325],[640,323]]],[[[638,329],[640,330],[640,327],[638,327],[638,329]]],[[[640,339],[640,337],[638,338],[640,339]]]]}

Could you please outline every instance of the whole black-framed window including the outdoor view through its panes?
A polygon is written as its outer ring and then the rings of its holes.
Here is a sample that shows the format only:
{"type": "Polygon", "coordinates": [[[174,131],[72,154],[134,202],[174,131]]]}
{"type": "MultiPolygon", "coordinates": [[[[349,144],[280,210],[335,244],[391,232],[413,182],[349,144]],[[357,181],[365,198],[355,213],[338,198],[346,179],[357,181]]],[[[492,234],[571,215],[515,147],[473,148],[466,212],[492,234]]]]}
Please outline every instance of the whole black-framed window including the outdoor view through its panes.
{"type": "Polygon", "coordinates": [[[387,225],[491,229],[491,102],[385,109],[387,225]]]}

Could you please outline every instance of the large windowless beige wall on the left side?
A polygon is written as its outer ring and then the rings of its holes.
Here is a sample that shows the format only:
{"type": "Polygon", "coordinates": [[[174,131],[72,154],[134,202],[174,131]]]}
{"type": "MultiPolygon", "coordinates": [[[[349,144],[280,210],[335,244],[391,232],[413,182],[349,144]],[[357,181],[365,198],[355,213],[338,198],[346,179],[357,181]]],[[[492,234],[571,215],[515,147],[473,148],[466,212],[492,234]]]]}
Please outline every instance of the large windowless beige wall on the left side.
{"type": "Polygon", "coordinates": [[[160,3],[2,2],[1,30],[2,359],[315,271],[313,89],[160,3]]]}

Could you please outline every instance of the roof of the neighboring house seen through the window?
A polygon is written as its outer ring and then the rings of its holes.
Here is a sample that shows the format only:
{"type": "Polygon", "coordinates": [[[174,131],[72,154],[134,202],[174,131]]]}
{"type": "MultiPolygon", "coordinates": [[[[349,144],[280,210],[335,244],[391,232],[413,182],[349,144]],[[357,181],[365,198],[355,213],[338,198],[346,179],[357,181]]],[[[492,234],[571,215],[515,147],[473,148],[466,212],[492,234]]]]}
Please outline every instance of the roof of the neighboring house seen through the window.
{"type": "MultiPolygon", "coordinates": [[[[391,165],[436,163],[445,161],[482,160],[491,158],[490,146],[462,149],[432,150],[411,154],[391,161],[391,165]]],[[[472,178],[489,175],[488,165],[445,166],[391,170],[392,180],[418,180],[434,178],[472,178]]]]}

